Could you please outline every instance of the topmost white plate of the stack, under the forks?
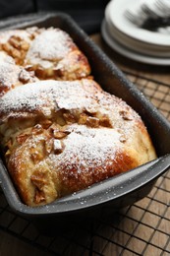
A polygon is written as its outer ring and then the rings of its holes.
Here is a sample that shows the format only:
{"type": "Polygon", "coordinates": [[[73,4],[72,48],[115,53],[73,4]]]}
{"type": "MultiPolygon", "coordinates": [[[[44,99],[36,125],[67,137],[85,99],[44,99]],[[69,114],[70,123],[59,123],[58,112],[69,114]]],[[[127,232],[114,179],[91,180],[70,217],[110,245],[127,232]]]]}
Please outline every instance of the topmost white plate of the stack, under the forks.
{"type": "Polygon", "coordinates": [[[106,7],[112,25],[120,32],[127,34],[143,42],[154,45],[170,46],[170,34],[161,32],[148,32],[137,28],[125,17],[125,11],[133,9],[134,12],[139,7],[139,0],[112,0],[106,7]]]}

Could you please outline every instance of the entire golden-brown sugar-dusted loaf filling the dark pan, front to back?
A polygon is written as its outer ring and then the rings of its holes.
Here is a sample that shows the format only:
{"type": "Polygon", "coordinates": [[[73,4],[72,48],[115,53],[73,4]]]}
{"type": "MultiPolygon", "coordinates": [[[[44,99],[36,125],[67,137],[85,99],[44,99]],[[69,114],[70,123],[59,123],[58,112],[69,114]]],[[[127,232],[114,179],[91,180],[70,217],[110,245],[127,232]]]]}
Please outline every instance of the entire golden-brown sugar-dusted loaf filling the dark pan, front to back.
{"type": "Polygon", "coordinates": [[[156,157],[141,117],[89,77],[66,32],[0,32],[0,63],[1,148],[28,206],[156,157]]]}

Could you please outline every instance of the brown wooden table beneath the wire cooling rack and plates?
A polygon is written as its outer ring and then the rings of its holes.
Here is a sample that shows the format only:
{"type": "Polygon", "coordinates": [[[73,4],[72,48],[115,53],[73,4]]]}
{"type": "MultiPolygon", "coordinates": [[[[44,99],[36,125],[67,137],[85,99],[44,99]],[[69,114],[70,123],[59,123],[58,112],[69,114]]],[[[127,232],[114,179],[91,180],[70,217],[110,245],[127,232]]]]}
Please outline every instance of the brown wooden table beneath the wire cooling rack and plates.
{"type": "MultiPolygon", "coordinates": [[[[120,69],[170,85],[170,67],[144,65],[111,50],[100,34],[91,38],[120,69]]],[[[131,79],[131,76],[130,76],[131,79]]],[[[170,94],[167,88],[167,94],[170,94]]],[[[166,105],[167,110],[170,108],[166,105]]],[[[158,179],[148,197],[109,220],[64,236],[40,234],[27,220],[13,215],[0,194],[0,255],[162,255],[170,252],[170,175],[158,179]],[[169,192],[169,193],[168,193],[169,192]],[[72,237],[72,235],[74,237],[72,237]],[[164,248],[164,251],[162,250],[164,248]],[[54,254],[52,253],[54,252],[54,254]]]]}

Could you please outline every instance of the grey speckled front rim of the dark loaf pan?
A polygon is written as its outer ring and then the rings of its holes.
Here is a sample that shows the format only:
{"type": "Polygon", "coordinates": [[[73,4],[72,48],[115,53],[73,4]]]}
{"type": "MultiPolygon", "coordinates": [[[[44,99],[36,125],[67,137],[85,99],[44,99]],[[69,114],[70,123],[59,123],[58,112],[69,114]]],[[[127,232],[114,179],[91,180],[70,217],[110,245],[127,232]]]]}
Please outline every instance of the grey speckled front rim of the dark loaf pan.
{"type": "MultiPolygon", "coordinates": [[[[1,163],[1,165],[2,164],[3,163],[1,163]]],[[[138,168],[94,184],[83,191],[58,199],[51,204],[35,208],[28,207],[20,201],[13,183],[9,183],[7,170],[0,172],[0,180],[7,201],[15,212],[29,216],[54,214],[57,216],[84,211],[85,209],[105,204],[108,201],[120,200],[133,191],[139,190],[150,181],[157,179],[168,170],[169,166],[170,155],[166,155],[162,158],[142,164],[138,168]]]]}

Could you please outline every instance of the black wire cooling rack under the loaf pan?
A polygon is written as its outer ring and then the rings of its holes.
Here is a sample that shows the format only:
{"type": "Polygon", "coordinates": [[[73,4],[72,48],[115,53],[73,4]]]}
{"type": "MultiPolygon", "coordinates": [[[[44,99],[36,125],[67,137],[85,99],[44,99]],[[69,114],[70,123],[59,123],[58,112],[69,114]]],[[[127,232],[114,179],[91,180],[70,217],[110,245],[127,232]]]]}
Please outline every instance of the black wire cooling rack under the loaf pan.
{"type": "MultiPolygon", "coordinates": [[[[170,85],[126,73],[142,93],[170,121],[170,85]]],[[[0,191],[0,233],[20,239],[41,255],[170,255],[170,172],[158,178],[140,202],[106,220],[46,236],[31,222],[15,215],[0,191]]]]}

